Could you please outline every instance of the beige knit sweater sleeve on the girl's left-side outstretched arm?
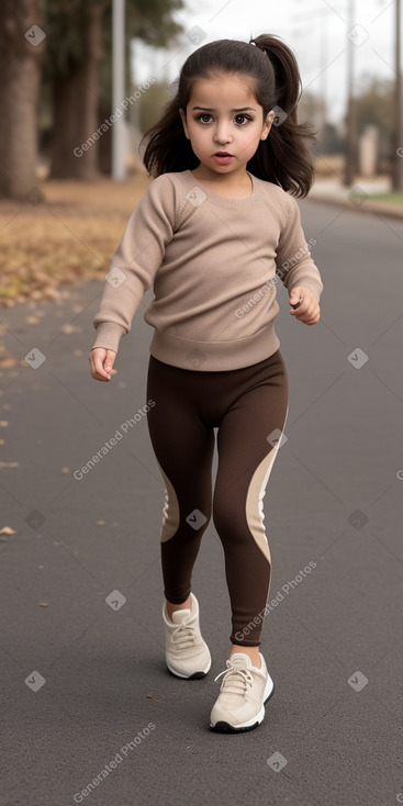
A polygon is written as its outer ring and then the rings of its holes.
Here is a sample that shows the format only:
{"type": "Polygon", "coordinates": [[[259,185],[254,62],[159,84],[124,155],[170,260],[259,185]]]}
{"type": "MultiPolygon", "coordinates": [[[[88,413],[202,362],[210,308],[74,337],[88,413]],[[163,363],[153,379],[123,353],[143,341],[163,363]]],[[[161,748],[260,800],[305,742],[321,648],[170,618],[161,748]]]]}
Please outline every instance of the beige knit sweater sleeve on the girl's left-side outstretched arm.
{"type": "Polygon", "coordinates": [[[145,292],[161,265],[175,231],[173,183],[163,175],[150,183],[132,212],[114,253],[93,326],[94,347],[117,352],[145,292]]]}

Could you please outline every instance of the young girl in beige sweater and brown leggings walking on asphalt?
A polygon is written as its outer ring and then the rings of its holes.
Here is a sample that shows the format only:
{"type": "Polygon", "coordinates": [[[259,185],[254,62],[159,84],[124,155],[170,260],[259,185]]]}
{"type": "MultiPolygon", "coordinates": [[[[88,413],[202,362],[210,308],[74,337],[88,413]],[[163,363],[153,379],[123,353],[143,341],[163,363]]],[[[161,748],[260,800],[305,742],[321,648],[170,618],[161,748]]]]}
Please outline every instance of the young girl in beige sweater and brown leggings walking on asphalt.
{"type": "Polygon", "coordinates": [[[144,164],[156,178],[128,220],[93,320],[91,374],[109,381],[154,282],[144,318],[155,328],[147,422],[166,486],[166,662],[188,680],[211,665],[191,576],[213,516],[232,608],[210,716],[222,732],[257,727],[273,692],[259,648],[271,570],[262,501],[288,414],[275,332],[279,277],[291,315],[320,321],[323,284],[293,199],[313,181],[314,135],[296,121],[299,90],[295,58],[276,36],[221,40],[189,56],[176,97],[145,135],[144,164]]]}

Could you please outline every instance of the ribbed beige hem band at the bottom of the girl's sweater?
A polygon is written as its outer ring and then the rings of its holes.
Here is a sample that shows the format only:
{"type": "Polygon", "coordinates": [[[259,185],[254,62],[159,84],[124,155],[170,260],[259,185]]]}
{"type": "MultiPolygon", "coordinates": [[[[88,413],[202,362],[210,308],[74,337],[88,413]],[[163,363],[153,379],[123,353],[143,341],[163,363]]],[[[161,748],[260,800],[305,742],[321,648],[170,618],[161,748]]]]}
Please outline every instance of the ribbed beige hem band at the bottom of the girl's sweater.
{"type": "Polygon", "coordinates": [[[155,331],[149,351],[164,363],[182,369],[222,372],[242,369],[269,358],[280,347],[270,325],[250,338],[236,342],[193,342],[155,331]]]}

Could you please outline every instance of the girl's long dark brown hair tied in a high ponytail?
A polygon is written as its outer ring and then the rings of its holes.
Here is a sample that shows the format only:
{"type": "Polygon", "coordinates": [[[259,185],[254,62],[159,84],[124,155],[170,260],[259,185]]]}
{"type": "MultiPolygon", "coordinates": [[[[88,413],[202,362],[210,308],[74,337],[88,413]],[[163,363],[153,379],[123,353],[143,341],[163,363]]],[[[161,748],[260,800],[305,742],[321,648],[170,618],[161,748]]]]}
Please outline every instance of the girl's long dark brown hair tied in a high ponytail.
{"type": "Polygon", "coordinates": [[[194,81],[223,74],[242,74],[254,79],[254,93],[264,109],[264,120],[270,110],[277,114],[267,139],[260,141],[247,163],[247,170],[292,195],[307,195],[313,182],[307,139],[315,139],[315,133],[311,124],[296,120],[301,77],[295,56],[280,37],[271,34],[261,34],[250,43],[211,42],[187,58],[176,82],[175,98],[143,137],[147,139],[143,161],[148,173],[157,177],[198,167],[200,160],[186,137],[179,110],[186,111],[194,81]]]}

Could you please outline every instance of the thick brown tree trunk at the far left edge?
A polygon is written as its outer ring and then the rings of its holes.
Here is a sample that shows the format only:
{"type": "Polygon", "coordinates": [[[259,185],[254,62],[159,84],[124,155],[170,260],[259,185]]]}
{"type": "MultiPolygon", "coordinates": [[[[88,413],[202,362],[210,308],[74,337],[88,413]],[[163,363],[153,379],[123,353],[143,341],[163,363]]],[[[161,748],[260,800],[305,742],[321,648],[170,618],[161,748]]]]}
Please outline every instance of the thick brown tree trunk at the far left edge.
{"type": "Polygon", "coordinates": [[[41,0],[13,0],[0,14],[0,193],[11,199],[26,198],[36,182],[36,104],[46,42],[41,7],[41,0]]]}

